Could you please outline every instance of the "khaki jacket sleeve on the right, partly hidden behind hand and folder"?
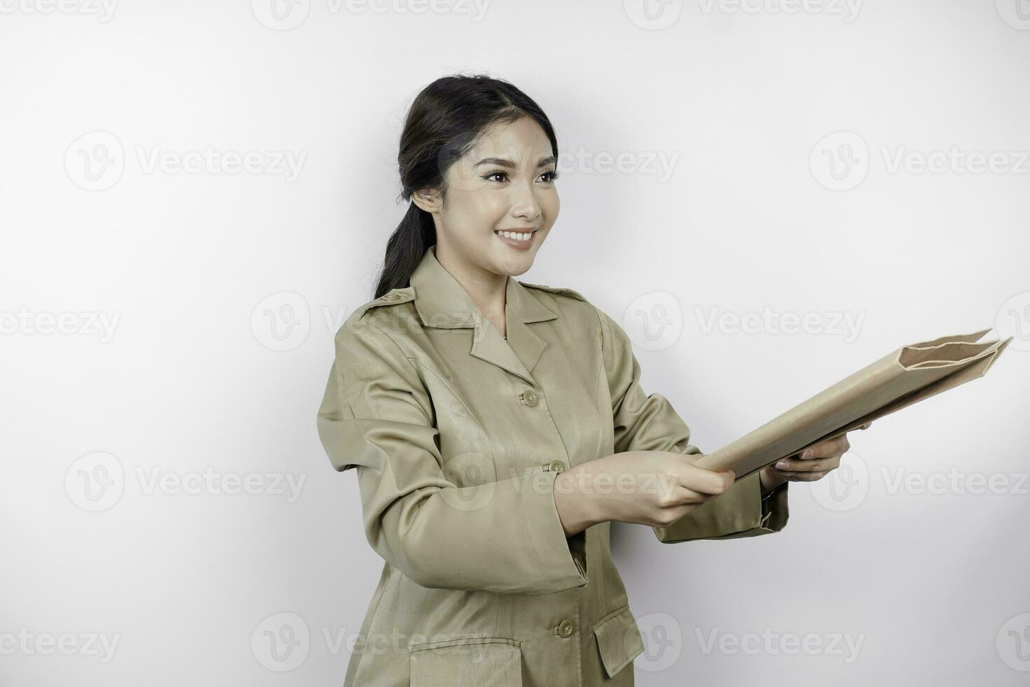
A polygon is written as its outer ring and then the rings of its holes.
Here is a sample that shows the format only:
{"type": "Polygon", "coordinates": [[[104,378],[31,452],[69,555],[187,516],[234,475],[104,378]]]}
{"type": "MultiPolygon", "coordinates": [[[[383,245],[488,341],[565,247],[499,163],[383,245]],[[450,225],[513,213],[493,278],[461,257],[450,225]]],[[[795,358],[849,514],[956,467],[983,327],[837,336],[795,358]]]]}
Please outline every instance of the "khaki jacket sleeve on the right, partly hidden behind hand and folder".
{"type": "MultiPolygon", "coordinates": [[[[605,368],[612,396],[615,451],[673,451],[703,455],[690,443],[690,427],[660,393],[641,388],[641,367],[625,331],[605,312],[600,317],[605,368]]],[[[788,482],[765,499],[757,472],[665,527],[666,543],[736,539],[780,531],[787,524],[788,482]]]]}

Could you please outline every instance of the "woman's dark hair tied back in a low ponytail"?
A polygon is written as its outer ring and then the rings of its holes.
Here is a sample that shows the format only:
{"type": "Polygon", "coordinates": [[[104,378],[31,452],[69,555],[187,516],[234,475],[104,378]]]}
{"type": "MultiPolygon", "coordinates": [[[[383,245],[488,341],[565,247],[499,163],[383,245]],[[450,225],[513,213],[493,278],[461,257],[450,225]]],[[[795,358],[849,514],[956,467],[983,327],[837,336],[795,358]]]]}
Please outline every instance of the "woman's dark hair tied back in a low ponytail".
{"type": "Polygon", "coordinates": [[[402,192],[408,211],[386,241],[386,257],[375,296],[406,288],[425,251],[437,242],[433,215],[411,202],[411,194],[436,188],[446,202],[444,172],[468,152],[483,130],[533,117],[551,141],[558,157],[554,128],[540,106],[510,82],[485,74],[443,76],[415,96],[401,132],[397,156],[402,192]]]}

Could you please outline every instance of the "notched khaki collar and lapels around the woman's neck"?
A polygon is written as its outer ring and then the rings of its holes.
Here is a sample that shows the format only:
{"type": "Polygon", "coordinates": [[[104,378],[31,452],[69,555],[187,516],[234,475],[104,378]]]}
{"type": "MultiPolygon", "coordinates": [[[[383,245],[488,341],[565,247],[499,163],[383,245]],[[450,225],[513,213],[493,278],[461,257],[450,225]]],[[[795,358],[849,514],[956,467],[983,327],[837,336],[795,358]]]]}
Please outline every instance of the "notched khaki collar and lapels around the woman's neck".
{"type": "Polygon", "coordinates": [[[504,368],[537,386],[530,376],[547,342],[527,324],[556,319],[560,315],[537,300],[528,288],[508,276],[505,286],[505,321],[508,341],[486,319],[458,280],[437,260],[432,245],[411,275],[415,308],[425,327],[473,329],[470,355],[504,368]]]}

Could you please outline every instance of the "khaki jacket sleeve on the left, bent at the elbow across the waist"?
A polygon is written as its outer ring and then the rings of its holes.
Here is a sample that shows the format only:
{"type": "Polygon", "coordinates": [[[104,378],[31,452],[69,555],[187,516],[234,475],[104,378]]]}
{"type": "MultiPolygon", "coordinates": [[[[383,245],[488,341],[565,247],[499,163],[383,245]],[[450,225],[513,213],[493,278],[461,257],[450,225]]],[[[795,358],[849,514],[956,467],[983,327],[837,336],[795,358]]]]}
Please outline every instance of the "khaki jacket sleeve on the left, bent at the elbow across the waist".
{"type": "Polygon", "coordinates": [[[423,587],[546,594],[586,584],[554,504],[558,472],[458,487],[441,469],[432,399],[383,330],[340,329],[318,410],[334,468],[356,468],[366,538],[423,587]]]}

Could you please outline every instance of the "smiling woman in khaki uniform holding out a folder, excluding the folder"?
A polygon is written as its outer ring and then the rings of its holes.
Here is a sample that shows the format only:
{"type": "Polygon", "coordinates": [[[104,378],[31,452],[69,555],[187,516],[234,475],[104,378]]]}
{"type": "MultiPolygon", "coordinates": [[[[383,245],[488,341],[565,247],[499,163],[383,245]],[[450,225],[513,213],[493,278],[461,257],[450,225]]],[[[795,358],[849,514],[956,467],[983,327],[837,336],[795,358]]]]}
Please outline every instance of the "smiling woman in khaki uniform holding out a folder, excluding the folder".
{"type": "Polygon", "coordinates": [[[644,646],[610,521],[779,531],[787,483],[848,449],[735,482],[692,465],[690,430],[641,388],[622,328],[514,278],[557,219],[557,154],[547,116],[503,80],[440,78],[408,112],[411,204],[376,299],[337,333],[318,412],[385,560],[345,686],[632,685],[644,646]]]}

